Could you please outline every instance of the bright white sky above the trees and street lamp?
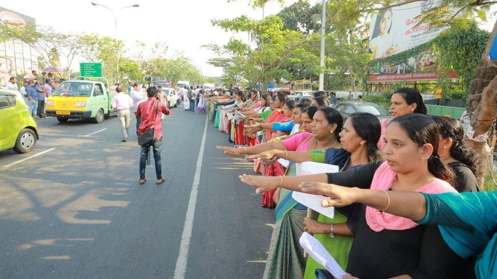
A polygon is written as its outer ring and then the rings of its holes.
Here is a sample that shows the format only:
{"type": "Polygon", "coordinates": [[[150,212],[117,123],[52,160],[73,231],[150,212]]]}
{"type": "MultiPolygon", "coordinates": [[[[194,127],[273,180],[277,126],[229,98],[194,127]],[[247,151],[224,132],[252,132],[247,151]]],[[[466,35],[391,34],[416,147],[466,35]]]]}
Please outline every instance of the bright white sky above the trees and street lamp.
{"type": "MultiPolygon", "coordinates": [[[[230,38],[248,42],[248,34],[227,33],[219,27],[212,26],[211,19],[234,18],[247,15],[262,18],[261,9],[252,9],[247,0],[228,3],[227,0],[95,0],[116,11],[118,20],[118,38],[129,48],[133,55],[136,41],[145,42],[150,50],[155,42],[169,46],[167,56],[172,57],[177,51],[189,57],[205,76],[220,76],[222,69],[207,64],[214,53],[202,45],[227,43],[230,38]],[[140,4],[138,8],[123,7],[140,4]]],[[[286,0],[289,6],[297,0],[286,0]]],[[[311,0],[311,4],[317,0],[311,0]]],[[[9,1],[2,7],[34,17],[38,25],[51,26],[60,32],[95,33],[100,36],[114,37],[114,17],[112,13],[100,6],[93,6],[91,0],[51,0],[41,4],[34,0],[9,1]]],[[[264,15],[277,14],[282,9],[276,1],[266,4],[264,15]]],[[[493,7],[495,12],[497,7],[493,7]]],[[[491,30],[495,15],[490,15],[481,27],[491,30]]],[[[72,66],[78,69],[78,63],[72,66]]]]}

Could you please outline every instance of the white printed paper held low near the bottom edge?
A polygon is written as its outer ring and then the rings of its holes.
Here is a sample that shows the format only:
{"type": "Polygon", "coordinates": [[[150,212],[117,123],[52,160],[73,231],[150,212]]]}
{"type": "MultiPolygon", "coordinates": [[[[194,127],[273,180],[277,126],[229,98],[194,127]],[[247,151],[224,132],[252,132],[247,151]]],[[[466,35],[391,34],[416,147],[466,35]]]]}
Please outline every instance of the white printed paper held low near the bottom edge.
{"type": "Polygon", "coordinates": [[[341,278],[347,273],[340,267],[337,261],[329,255],[328,251],[314,236],[307,232],[300,236],[300,246],[311,256],[316,262],[324,266],[335,278],[341,278]]]}

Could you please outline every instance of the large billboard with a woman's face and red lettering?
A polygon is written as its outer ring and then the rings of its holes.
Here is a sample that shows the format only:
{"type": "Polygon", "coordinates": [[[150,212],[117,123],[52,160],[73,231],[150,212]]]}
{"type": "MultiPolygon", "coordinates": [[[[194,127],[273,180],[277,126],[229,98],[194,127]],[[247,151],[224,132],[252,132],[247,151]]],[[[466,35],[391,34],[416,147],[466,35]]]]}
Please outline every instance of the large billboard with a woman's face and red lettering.
{"type": "MultiPolygon", "coordinates": [[[[425,44],[449,27],[419,24],[424,11],[435,8],[439,1],[425,0],[383,9],[371,18],[369,51],[373,61],[369,65],[369,82],[436,80],[438,54],[423,49],[400,64],[390,64],[385,58],[425,44]]],[[[450,9],[450,7],[440,7],[450,9]]],[[[451,78],[456,78],[454,73],[451,78]]]]}

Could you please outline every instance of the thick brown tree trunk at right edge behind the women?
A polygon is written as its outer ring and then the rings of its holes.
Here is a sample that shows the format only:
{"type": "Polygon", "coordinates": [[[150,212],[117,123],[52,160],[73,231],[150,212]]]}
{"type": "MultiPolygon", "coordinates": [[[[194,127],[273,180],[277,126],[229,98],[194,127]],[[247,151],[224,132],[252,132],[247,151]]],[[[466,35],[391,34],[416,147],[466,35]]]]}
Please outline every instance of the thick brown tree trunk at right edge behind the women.
{"type": "Polygon", "coordinates": [[[491,166],[495,146],[495,117],[497,116],[497,62],[488,59],[490,47],[497,33],[497,21],[493,26],[487,46],[476,70],[471,87],[471,96],[467,104],[467,113],[471,114],[471,129],[464,137],[465,144],[478,154],[477,177],[483,188],[485,175],[491,166]]]}

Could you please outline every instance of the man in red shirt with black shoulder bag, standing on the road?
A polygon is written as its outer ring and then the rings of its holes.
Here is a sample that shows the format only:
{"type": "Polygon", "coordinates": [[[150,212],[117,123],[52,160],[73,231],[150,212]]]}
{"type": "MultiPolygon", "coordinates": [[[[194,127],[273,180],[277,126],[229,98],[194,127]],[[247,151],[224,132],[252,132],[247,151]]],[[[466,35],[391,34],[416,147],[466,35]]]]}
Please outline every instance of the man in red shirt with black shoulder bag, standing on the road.
{"type": "MultiPolygon", "coordinates": [[[[157,135],[157,142],[155,142],[153,147],[154,161],[155,161],[155,174],[157,175],[157,185],[165,181],[162,177],[162,165],[160,163],[160,152],[162,145],[162,122],[160,120],[161,114],[169,115],[169,109],[162,102],[157,100],[157,88],[155,86],[150,86],[147,88],[148,100],[140,103],[136,108],[136,116],[141,117],[140,127],[138,129],[138,134],[141,135],[145,131],[154,128],[155,134],[157,135]],[[157,113],[155,113],[156,107],[158,106],[157,113]]],[[[142,146],[142,151],[140,152],[140,184],[144,184],[147,179],[145,179],[145,166],[147,164],[147,156],[150,147],[142,146]]]]}

